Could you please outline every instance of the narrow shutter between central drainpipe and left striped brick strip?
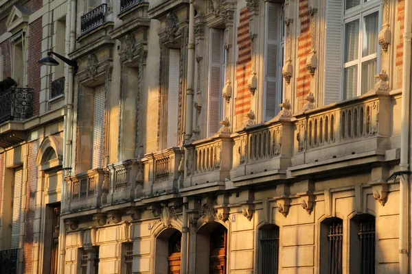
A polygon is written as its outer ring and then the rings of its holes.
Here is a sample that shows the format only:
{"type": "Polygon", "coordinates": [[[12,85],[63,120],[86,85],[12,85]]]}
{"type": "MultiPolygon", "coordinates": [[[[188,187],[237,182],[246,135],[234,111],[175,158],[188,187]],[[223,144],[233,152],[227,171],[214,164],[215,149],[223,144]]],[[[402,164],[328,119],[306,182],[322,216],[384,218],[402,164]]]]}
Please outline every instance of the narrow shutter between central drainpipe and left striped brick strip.
{"type": "Polygon", "coordinates": [[[207,123],[208,136],[218,132],[222,119],[222,64],[223,64],[223,30],[210,29],[209,47],[209,115],[207,123]]]}

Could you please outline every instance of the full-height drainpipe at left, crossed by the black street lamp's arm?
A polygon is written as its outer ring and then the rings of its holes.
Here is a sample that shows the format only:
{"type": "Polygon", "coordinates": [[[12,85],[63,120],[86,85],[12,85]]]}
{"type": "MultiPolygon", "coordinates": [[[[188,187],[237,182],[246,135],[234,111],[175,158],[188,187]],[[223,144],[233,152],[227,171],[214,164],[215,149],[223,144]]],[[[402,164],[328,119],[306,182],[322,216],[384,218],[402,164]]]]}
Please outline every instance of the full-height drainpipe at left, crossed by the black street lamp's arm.
{"type": "MultiPolygon", "coordinates": [[[[67,1],[67,28],[66,28],[66,56],[74,51],[76,42],[76,0],[67,1]]],[[[68,57],[68,56],[67,56],[68,57]]],[[[73,127],[73,66],[66,64],[66,81],[65,81],[65,121],[63,123],[63,178],[62,178],[62,200],[60,212],[65,210],[65,199],[67,198],[67,189],[65,176],[71,172],[71,129],[73,127]]],[[[65,273],[65,253],[66,253],[66,225],[64,219],[60,218],[60,235],[59,235],[60,257],[58,260],[58,273],[65,273]]]]}

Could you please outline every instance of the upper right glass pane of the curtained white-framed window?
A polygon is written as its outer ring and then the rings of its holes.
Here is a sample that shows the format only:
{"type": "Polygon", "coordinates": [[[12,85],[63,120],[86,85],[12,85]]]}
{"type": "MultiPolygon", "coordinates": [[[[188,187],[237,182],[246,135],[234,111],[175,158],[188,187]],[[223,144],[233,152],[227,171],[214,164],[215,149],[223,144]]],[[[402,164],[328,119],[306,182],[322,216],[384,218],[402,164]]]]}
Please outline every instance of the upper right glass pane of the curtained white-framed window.
{"type": "Polygon", "coordinates": [[[363,57],[376,53],[378,50],[378,28],[378,12],[363,17],[363,57]]]}

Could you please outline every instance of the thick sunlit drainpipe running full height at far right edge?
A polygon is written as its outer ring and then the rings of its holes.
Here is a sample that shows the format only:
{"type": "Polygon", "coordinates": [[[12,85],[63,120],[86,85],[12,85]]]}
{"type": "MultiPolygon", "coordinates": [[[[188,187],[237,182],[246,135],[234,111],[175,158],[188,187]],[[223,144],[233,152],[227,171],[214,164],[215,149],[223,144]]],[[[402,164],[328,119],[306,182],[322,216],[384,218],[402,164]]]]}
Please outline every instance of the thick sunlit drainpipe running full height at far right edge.
{"type": "MultiPolygon", "coordinates": [[[[411,1],[405,1],[404,10],[404,45],[402,67],[402,114],[400,135],[400,171],[409,170],[409,105],[411,92],[411,1]]],[[[408,221],[409,221],[409,175],[400,177],[400,212],[399,212],[399,264],[400,273],[408,272],[408,221]]]]}

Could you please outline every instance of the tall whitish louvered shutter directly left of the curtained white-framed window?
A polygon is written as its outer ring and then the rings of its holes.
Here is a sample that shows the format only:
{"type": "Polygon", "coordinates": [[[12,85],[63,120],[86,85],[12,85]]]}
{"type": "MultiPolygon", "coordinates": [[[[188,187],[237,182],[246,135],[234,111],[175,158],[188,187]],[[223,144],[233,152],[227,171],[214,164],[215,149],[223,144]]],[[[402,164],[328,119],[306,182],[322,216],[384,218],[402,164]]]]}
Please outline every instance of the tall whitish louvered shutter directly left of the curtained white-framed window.
{"type": "Polygon", "coordinates": [[[326,7],[325,89],[323,104],[339,101],[341,90],[342,0],[329,0],[326,7]]]}

